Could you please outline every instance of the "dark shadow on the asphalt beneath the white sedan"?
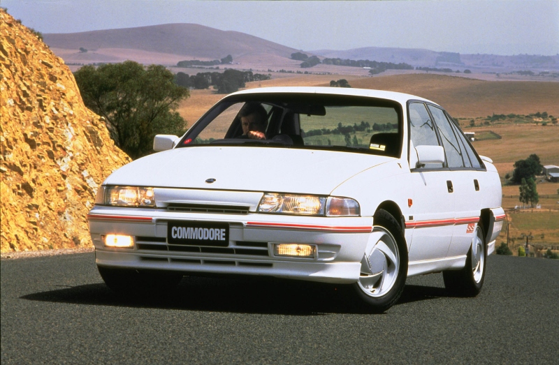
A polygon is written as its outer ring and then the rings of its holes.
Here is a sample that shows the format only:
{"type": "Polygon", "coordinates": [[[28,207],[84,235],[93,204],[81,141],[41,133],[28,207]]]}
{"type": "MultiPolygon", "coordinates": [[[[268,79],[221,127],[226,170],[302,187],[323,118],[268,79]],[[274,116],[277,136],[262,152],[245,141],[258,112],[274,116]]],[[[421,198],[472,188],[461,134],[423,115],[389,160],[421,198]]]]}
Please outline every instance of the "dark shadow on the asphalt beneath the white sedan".
{"type": "MultiPolygon", "coordinates": [[[[406,285],[396,304],[404,305],[448,297],[444,289],[406,285]]],[[[36,292],[20,297],[32,301],[166,308],[184,311],[219,311],[284,315],[324,315],[327,313],[368,313],[348,285],[308,283],[275,278],[223,279],[185,276],[168,295],[126,297],[104,283],[36,292]]]]}

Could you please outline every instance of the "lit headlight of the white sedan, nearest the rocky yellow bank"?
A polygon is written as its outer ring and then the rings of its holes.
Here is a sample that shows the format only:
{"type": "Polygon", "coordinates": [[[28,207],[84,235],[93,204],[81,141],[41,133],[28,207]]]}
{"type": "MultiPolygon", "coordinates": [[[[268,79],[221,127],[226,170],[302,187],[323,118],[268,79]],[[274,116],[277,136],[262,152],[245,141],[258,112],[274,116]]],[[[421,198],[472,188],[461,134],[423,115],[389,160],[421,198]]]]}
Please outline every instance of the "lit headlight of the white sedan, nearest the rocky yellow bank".
{"type": "Polygon", "coordinates": [[[155,207],[155,198],[153,188],[101,186],[95,203],[117,207],[155,207]]]}

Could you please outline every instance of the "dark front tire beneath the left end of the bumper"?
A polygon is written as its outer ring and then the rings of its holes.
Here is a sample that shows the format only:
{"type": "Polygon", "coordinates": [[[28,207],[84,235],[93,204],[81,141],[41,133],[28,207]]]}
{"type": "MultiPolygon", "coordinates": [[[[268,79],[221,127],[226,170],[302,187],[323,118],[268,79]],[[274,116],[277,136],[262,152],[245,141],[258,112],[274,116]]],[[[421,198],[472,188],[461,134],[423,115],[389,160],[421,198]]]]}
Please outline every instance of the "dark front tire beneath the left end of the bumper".
{"type": "Polygon", "coordinates": [[[182,280],[182,274],[172,271],[138,271],[101,266],[97,269],[111,290],[125,295],[164,295],[182,280]]]}

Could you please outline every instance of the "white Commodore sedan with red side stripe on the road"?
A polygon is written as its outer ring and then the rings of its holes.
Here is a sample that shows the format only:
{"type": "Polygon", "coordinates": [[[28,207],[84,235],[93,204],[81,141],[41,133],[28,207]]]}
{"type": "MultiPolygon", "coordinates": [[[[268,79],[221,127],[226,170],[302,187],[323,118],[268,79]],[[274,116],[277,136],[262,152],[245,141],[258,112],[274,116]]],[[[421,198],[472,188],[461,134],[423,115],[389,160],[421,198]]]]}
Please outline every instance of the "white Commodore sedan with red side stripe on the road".
{"type": "Polygon", "coordinates": [[[113,290],[274,276],[354,285],[382,312],[408,276],[442,271],[474,296],[504,220],[491,159],[418,96],[240,91],[154,150],[112,173],[87,216],[113,290]]]}

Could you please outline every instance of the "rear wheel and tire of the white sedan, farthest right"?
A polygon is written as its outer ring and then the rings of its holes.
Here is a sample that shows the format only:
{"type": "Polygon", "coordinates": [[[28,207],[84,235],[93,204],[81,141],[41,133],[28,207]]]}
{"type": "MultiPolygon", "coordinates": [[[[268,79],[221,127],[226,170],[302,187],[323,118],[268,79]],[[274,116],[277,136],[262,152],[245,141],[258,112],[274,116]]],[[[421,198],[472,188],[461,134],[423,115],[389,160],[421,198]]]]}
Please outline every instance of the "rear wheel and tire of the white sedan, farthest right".
{"type": "Polygon", "coordinates": [[[481,222],[477,225],[472,246],[467,253],[466,265],[460,270],[442,271],[444,287],[453,295],[475,297],[484,286],[487,246],[481,222]]]}

